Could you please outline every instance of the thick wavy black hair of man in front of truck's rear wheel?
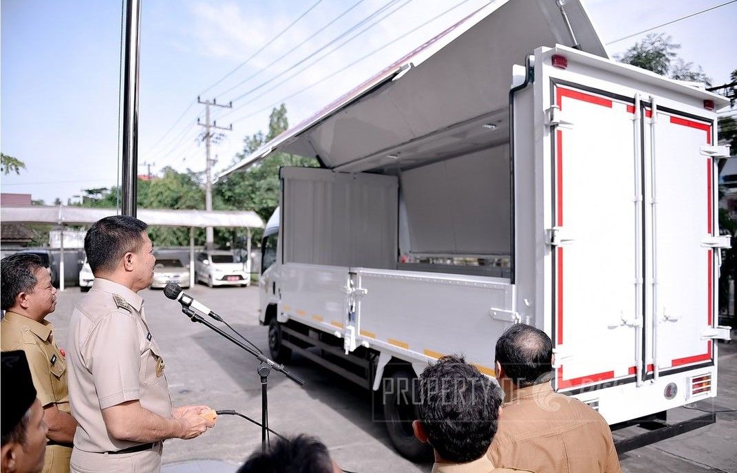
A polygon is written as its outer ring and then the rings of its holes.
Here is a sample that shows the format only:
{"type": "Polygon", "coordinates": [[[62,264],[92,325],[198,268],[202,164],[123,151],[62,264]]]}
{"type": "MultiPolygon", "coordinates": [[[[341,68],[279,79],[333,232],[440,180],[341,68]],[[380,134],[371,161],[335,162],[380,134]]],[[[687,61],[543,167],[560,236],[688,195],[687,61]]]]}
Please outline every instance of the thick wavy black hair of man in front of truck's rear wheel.
{"type": "Polygon", "coordinates": [[[497,385],[462,356],[444,356],[419,377],[419,421],[444,460],[467,463],[486,453],[497,433],[497,385]]]}

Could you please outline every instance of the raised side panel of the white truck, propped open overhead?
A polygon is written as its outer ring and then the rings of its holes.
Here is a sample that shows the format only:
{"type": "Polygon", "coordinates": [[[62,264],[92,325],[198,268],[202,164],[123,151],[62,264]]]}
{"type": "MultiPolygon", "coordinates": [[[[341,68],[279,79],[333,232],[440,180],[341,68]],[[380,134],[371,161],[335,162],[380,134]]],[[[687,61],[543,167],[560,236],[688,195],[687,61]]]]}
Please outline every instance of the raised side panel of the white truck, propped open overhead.
{"type": "Polygon", "coordinates": [[[220,177],[275,151],[362,172],[415,167],[447,157],[448,150],[467,153],[494,139],[504,142],[512,66],[535,48],[556,44],[608,58],[579,0],[563,9],[555,0],[492,1],[220,177]]]}

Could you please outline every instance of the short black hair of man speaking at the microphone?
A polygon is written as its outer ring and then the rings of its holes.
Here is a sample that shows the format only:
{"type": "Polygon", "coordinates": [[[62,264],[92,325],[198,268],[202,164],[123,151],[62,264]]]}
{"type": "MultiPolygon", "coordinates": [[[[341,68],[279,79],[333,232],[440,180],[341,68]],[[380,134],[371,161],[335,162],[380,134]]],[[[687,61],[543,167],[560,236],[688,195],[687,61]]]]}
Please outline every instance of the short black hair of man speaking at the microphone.
{"type": "Polygon", "coordinates": [[[92,274],[115,271],[125,253],[139,249],[143,243],[141,233],[147,228],[145,222],[126,215],[96,221],[85,235],[85,253],[92,274]]]}

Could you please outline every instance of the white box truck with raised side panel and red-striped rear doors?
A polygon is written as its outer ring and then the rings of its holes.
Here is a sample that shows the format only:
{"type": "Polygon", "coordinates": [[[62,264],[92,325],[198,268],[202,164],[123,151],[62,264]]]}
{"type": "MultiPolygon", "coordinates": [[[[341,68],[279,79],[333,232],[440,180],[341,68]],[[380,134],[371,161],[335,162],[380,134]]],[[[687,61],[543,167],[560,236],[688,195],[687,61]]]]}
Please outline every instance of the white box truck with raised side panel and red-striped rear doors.
{"type": "Polygon", "coordinates": [[[321,163],[282,168],[265,232],[272,355],[383,391],[408,458],[412,379],[449,353],[493,376],[517,322],[610,424],[716,396],[724,105],[610,60],[579,1],[483,7],[228,170],[321,163]]]}

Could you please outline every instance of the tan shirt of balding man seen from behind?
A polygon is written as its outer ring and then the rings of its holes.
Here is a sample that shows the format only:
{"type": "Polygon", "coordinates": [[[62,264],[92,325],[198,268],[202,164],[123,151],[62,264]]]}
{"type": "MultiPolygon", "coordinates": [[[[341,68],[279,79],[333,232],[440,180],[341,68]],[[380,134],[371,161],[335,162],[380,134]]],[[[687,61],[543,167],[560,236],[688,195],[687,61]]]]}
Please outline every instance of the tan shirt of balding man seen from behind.
{"type": "Polygon", "coordinates": [[[489,457],[537,473],[621,472],[607,421],[550,383],[523,387],[503,404],[489,457]]]}

